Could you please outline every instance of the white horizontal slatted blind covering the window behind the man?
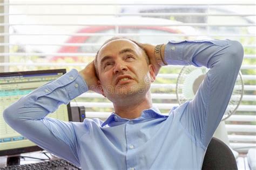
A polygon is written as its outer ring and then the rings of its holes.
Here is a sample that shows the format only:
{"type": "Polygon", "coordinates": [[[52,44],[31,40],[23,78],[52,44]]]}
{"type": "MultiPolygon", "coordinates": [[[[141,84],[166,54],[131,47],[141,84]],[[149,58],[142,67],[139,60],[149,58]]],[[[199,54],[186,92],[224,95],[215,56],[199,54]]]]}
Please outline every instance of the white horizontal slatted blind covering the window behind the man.
{"type": "MultiPolygon", "coordinates": [[[[0,1],[0,72],[83,69],[113,36],[153,45],[168,40],[232,39],[245,49],[244,95],[226,123],[231,147],[256,147],[255,3],[85,3],[0,1]]],[[[167,114],[178,105],[176,81],[183,66],[166,66],[152,84],[153,103],[167,114]]],[[[71,102],[88,118],[106,119],[113,105],[89,91],[71,102]]]]}

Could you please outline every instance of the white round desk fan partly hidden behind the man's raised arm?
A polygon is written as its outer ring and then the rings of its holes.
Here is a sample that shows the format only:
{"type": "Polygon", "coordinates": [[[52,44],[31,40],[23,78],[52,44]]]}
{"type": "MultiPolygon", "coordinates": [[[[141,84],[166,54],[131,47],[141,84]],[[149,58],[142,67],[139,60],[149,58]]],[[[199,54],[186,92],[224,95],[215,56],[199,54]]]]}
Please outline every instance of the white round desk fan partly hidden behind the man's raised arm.
{"type": "MultiPolygon", "coordinates": [[[[181,69],[176,84],[176,95],[179,104],[190,101],[194,98],[200,84],[204,81],[205,74],[208,72],[208,70],[210,69],[206,67],[194,66],[184,66],[181,69]]],[[[230,146],[230,143],[228,141],[225,120],[234,114],[235,110],[237,110],[239,104],[241,103],[243,93],[244,83],[242,82],[242,74],[239,72],[237,81],[235,81],[235,86],[231,95],[230,102],[228,103],[225,114],[213,135],[214,137],[224,141],[228,146],[230,146]]],[[[234,151],[232,148],[231,150],[234,154],[234,157],[238,158],[238,152],[234,151]]]]}

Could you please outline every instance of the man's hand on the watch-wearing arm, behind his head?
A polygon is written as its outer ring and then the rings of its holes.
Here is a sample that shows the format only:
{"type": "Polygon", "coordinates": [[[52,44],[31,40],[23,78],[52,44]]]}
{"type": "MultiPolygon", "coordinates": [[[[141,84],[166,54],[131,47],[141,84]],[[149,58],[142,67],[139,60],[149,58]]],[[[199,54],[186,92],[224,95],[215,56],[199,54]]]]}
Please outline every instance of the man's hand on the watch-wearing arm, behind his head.
{"type": "MultiPolygon", "coordinates": [[[[147,56],[149,56],[150,63],[154,66],[154,69],[156,70],[156,76],[157,76],[161,66],[158,65],[156,56],[154,56],[154,48],[156,46],[153,46],[151,44],[141,44],[141,45],[144,47],[144,49],[147,53],[147,56]]],[[[163,45],[163,47],[161,48],[161,54],[163,57],[164,57],[164,49],[165,49],[165,45],[163,45]]]]}

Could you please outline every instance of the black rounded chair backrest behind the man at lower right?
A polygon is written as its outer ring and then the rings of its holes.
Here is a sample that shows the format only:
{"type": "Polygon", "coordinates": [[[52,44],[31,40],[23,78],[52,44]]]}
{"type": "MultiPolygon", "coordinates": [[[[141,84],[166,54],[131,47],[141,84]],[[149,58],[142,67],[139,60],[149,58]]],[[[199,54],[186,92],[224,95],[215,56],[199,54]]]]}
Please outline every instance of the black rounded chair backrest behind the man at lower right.
{"type": "Polygon", "coordinates": [[[212,138],[207,147],[202,169],[238,169],[230,148],[221,140],[212,138]]]}

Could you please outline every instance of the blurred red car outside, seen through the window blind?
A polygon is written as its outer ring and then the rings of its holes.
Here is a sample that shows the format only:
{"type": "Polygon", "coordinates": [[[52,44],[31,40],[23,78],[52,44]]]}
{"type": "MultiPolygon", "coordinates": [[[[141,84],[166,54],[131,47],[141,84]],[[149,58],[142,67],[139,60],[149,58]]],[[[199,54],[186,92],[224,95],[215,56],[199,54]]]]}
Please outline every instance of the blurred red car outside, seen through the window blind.
{"type": "MultiPolygon", "coordinates": [[[[63,46],[58,50],[58,53],[96,53],[103,44],[103,42],[111,37],[114,36],[123,36],[129,37],[131,39],[137,40],[138,42],[147,42],[152,44],[161,44],[163,42],[167,42],[168,40],[178,40],[188,38],[186,36],[173,36],[173,34],[195,34],[193,27],[189,26],[146,26],[145,21],[150,23],[148,25],[153,25],[152,23],[159,23],[163,25],[171,25],[177,24],[179,22],[171,21],[167,19],[160,19],[160,18],[141,18],[141,17],[121,17],[118,19],[122,19],[123,22],[129,19],[136,19],[136,22],[139,23],[140,26],[126,26],[120,25],[118,26],[118,34],[116,32],[116,26],[90,26],[85,27],[79,30],[77,33],[100,33],[103,36],[73,36],[66,43],[79,43],[79,44],[86,44],[86,43],[93,43],[99,44],[99,46],[90,45],[90,46],[63,46]],[[145,26],[144,26],[145,25],[145,26]],[[138,36],[140,34],[140,36],[138,36]],[[126,36],[127,35],[127,36],[126,36]]],[[[127,23],[127,22],[126,22],[127,23]]],[[[136,25],[136,24],[135,24],[136,25]]],[[[137,24],[138,25],[138,24],[137,24]]],[[[68,56],[54,56],[51,61],[56,61],[58,59],[64,59],[68,56]]],[[[73,61],[79,61],[79,56],[71,56],[73,61]]]]}

